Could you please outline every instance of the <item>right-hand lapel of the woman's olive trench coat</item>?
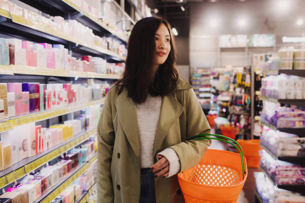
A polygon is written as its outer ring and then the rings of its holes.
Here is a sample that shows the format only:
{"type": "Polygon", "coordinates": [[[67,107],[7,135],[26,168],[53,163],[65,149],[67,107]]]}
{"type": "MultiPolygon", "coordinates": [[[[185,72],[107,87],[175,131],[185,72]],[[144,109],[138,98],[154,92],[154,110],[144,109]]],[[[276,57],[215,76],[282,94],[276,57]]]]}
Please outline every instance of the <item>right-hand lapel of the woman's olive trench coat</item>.
{"type": "Polygon", "coordinates": [[[169,128],[174,121],[179,118],[183,110],[184,107],[172,96],[172,94],[163,97],[155,135],[153,154],[156,154],[156,151],[159,149],[162,141],[166,137],[169,128]]]}

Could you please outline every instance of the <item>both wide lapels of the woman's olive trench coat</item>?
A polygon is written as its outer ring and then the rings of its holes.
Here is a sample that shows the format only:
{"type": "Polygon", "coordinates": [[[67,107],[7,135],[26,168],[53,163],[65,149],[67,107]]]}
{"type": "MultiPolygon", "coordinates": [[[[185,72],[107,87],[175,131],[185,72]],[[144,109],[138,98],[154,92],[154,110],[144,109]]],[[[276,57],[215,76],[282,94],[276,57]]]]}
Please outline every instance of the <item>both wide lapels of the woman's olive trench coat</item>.
{"type": "MultiPolygon", "coordinates": [[[[140,161],[140,138],[139,126],[137,121],[137,105],[129,98],[125,89],[116,99],[115,106],[119,113],[119,122],[126,134],[126,137],[133,148],[138,160],[140,161]]],[[[153,154],[161,146],[169,128],[183,112],[184,107],[169,94],[162,98],[160,116],[156,130],[153,154]]]]}

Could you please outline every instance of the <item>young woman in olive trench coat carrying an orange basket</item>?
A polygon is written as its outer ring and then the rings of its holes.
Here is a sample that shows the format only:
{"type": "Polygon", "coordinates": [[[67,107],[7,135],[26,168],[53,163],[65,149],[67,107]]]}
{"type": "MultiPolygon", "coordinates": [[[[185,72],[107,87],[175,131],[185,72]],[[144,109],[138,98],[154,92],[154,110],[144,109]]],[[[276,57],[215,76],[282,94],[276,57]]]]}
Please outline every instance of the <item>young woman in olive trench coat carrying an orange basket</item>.
{"type": "Polygon", "coordinates": [[[98,123],[98,203],[184,202],[174,175],[195,166],[211,141],[189,140],[210,126],[175,61],[169,23],[138,21],[98,123]]]}

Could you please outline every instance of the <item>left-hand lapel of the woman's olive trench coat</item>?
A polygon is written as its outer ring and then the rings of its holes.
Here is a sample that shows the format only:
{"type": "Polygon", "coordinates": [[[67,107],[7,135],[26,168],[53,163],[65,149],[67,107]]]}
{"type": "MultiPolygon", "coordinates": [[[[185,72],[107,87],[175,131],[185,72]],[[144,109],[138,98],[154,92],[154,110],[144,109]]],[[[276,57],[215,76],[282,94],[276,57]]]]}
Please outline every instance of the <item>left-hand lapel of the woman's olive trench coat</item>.
{"type": "Polygon", "coordinates": [[[126,134],[126,137],[140,161],[140,139],[137,121],[137,105],[127,96],[124,90],[116,99],[115,105],[119,113],[119,122],[126,134]]]}

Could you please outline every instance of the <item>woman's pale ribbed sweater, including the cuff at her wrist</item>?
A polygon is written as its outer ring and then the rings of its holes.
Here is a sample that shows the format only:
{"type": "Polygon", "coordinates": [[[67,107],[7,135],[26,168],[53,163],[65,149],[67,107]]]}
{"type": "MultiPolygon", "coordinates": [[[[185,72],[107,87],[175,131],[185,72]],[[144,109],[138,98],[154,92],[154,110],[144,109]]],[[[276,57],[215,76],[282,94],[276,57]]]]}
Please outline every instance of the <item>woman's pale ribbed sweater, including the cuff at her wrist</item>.
{"type": "MultiPolygon", "coordinates": [[[[140,134],[141,168],[151,168],[153,165],[153,146],[161,109],[161,97],[148,96],[144,103],[137,104],[137,120],[140,134]]],[[[168,177],[180,171],[180,161],[176,152],[166,148],[158,153],[169,162],[168,177]]]]}

